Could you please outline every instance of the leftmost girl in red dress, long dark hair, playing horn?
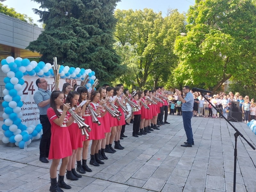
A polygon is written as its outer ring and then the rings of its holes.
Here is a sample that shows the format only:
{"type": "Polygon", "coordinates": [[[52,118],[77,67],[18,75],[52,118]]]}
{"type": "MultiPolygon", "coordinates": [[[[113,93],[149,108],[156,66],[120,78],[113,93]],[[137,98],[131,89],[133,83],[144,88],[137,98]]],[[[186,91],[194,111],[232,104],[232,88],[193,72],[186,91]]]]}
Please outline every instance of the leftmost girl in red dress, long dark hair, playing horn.
{"type": "Polygon", "coordinates": [[[60,188],[70,189],[64,182],[64,174],[67,169],[69,156],[72,155],[72,147],[68,126],[74,119],[67,113],[69,103],[63,104],[64,94],[61,91],[53,91],[50,98],[50,107],[47,109],[47,116],[51,123],[51,144],[48,159],[52,159],[50,167],[51,187],[50,191],[62,191],[60,188]],[[57,183],[57,167],[61,161],[59,178],[57,183]]]}

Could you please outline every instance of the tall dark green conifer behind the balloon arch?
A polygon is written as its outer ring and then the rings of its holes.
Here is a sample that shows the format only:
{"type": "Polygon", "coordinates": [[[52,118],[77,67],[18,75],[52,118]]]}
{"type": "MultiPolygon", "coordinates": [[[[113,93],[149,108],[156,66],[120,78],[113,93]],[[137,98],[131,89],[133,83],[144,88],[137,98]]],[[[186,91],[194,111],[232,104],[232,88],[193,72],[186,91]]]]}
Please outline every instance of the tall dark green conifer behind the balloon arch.
{"type": "Polygon", "coordinates": [[[34,0],[44,11],[34,9],[45,30],[27,47],[40,52],[41,60],[91,68],[100,81],[120,76],[124,67],[113,49],[113,16],[119,0],[34,0]]]}

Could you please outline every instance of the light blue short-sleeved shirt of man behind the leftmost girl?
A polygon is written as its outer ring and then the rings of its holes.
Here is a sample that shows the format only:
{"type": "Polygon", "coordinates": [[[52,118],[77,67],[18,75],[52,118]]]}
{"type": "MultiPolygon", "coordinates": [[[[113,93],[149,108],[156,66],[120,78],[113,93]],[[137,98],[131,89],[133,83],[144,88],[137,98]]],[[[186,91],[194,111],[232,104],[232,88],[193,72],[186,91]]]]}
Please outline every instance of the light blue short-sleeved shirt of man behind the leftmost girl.
{"type": "MultiPolygon", "coordinates": [[[[35,92],[33,97],[36,102],[36,105],[38,106],[38,103],[41,103],[42,101],[50,99],[51,94],[52,92],[50,92],[49,90],[45,91],[39,88],[38,91],[35,92]]],[[[38,107],[38,108],[39,108],[40,115],[46,115],[47,109],[50,108],[50,103],[44,107],[38,107]]]]}

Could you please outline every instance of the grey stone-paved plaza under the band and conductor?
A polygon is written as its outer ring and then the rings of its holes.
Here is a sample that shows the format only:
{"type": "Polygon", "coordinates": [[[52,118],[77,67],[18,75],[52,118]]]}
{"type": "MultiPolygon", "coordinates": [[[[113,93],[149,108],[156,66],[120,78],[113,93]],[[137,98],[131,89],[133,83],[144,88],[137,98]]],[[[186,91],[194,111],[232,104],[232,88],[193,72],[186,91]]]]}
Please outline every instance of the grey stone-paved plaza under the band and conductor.
{"type": "MultiPolygon", "coordinates": [[[[77,181],[67,180],[68,192],[220,192],[233,191],[234,133],[224,119],[193,117],[195,145],[181,147],[186,141],[182,116],[168,115],[168,122],[145,136],[132,137],[132,124],[126,126],[121,140],[124,150],[106,154],[108,160],[100,167],[89,167],[77,181]]],[[[1,125],[3,121],[0,121],[1,125]]],[[[233,123],[233,122],[231,122],[233,123]]],[[[245,123],[233,123],[256,144],[256,135],[245,123]]],[[[0,131],[0,138],[3,132],[0,131]]],[[[48,164],[39,161],[39,140],[28,146],[28,152],[18,147],[0,145],[0,191],[49,191],[48,164]]],[[[256,191],[256,151],[238,138],[237,192],[256,191]]],[[[89,149],[90,151],[90,149],[89,149]]],[[[88,158],[90,153],[88,153],[88,158]]],[[[89,164],[89,160],[87,161],[89,164]]],[[[57,173],[58,174],[58,173],[57,173]]]]}

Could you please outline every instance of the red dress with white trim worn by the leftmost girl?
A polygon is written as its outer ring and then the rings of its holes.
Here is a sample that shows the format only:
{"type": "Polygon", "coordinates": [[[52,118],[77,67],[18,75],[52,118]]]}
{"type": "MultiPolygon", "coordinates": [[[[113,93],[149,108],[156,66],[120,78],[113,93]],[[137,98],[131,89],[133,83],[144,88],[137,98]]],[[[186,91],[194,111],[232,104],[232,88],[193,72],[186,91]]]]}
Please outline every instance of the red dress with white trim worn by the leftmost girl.
{"type": "MultiPolygon", "coordinates": [[[[60,112],[60,114],[62,113],[61,109],[58,109],[58,111],[60,112]]],[[[47,116],[51,123],[52,132],[48,159],[62,159],[64,157],[71,156],[72,148],[68,127],[66,125],[66,122],[69,118],[69,114],[66,114],[64,122],[61,126],[53,122],[53,120],[57,119],[58,116],[55,114],[52,108],[47,109],[47,116]]]]}

